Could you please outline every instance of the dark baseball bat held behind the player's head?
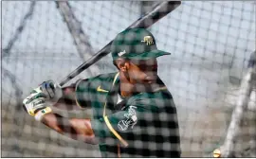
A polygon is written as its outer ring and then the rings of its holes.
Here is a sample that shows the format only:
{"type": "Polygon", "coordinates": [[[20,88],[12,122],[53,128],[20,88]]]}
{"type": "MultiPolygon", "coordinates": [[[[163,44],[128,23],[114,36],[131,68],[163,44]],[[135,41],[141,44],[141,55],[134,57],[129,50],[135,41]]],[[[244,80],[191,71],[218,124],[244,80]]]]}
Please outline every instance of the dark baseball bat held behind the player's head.
{"type": "MultiPolygon", "coordinates": [[[[166,16],[168,13],[176,9],[178,6],[180,6],[180,1],[165,1],[160,2],[155,5],[154,9],[137,19],[136,22],[134,22],[131,26],[128,26],[128,28],[147,28],[149,26],[152,26],[160,20],[162,17],[166,16]]],[[[73,72],[71,72],[67,77],[65,77],[63,80],[61,80],[60,85],[64,86],[66,82],[68,82],[70,79],[75,78],[78,76],[83,70],[91,66],[93,63],[98,62],[110,53],[110,46],[113,41],[106,44],[98,53],[93,55],[88,61],[83,62],[78,68],[76,68],[73,72]]]]}

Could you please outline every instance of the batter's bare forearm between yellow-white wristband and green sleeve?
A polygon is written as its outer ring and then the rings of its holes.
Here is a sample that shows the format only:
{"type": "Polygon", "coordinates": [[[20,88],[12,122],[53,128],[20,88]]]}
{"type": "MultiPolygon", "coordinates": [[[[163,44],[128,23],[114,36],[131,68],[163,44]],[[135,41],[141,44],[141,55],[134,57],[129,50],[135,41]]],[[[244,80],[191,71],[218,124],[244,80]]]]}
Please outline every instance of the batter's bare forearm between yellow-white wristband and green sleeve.
{"type": "Polygon", "coordinates": [[[47,127],[75,140],[97,144],[90,119],[66,118],[57,114],[47,114],[41,120],[47,127]]]}

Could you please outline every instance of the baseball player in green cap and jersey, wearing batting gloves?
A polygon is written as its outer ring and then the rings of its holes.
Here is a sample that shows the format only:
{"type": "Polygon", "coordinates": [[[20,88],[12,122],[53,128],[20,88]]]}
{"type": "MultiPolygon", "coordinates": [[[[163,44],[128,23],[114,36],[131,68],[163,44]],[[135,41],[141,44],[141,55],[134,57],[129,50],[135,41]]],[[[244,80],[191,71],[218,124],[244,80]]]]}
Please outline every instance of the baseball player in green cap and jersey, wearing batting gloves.
{"type": "Polygon", "coordinates": [[[23,104],[47,127],[88,144],[99,144],[102,157],[180,157],[176,108],[157,76],[158,50],[151,32],[132,28],[111,45],[117,73],[79,79],[61,88],[44,81],[23,104]],[[50,103],[50,104],[49,104],[50,103]],[[93,110],[93,117],[66,118],[49,105],[93,110]]]}

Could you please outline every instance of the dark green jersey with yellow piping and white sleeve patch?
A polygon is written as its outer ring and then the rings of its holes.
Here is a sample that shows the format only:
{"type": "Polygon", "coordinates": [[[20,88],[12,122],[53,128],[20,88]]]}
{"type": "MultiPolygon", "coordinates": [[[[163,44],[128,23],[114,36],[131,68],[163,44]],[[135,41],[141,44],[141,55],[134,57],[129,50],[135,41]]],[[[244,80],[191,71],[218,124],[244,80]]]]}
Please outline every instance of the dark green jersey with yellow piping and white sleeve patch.
{"type": "Polygon", "coordinates": [[[176,108],[164,83],[124,98],[119,82],[111,73],[76,83],[77,104],[93,110],[102,157],[180,157],[176,108]]]}

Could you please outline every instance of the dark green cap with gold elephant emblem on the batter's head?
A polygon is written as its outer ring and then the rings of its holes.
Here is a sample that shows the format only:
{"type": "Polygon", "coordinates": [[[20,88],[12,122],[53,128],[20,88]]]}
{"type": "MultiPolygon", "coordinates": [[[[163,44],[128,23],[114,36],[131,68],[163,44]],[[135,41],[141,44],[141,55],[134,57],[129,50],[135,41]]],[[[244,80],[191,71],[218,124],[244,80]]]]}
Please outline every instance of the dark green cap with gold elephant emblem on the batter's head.
{"type": "Polygon", "coordinates": [[[148,60],[171,53],[158,50],[155,37],[145,28],[130,28],[120,32],[111,44],[113,61],[124,59],[148,60]]]}

